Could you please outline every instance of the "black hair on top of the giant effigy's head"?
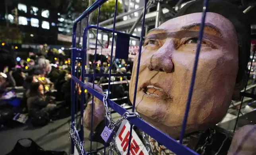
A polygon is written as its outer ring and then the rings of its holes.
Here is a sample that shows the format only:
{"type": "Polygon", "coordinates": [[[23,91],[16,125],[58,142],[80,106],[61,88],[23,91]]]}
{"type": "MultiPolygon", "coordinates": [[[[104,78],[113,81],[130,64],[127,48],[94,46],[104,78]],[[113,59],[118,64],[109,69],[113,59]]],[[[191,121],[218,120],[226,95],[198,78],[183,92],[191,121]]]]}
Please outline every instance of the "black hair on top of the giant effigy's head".
{"type": "MultiPolygon", "coordinates": [[[[190,13],[198,13],[203,10],[204,0],[198,0],[186,4],[183,8],[178,11],[175,17],[187,15],[190,13]]],[[[223,0],[209,0],[208,12],[218,13],[222,15],[235,27],[237,30],[237,38],[239,43],[239,70],[237,73],[237,83],[242,80],[244,71],[247,68],[248,61],[250,59],[250,48],[251,48],[251,27],[246,21],[244,13],[239,10],[235,5],[225,2],[223,0]]],[[[207,16],[207,15],[206,15],[207,16]]],[[[232,39],[232,38],[230,38],[232,39]]]]}

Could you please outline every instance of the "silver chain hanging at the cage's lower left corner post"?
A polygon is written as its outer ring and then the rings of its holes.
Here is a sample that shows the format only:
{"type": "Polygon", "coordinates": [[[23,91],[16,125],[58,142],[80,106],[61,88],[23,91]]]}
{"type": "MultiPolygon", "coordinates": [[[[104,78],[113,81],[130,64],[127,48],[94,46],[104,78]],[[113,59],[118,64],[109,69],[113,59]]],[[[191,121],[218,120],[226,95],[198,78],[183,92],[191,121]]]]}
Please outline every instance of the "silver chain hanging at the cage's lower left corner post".
{"type": "MultiPolygon", "coordinates": [[[[73,123],[71,123],[71,125],[72,124],[74,125],[75,123],[73,122],[73,123]]],[[[84,141],[81,142],[81,141],[78,140],[78,138],[77,138],[77,137],[79,137],[78,130],[76,130],[75,126],[73,126],[73,127],[74,127],[74,129],[70,128],[70,130],[68,132],[68,137],[69,137],[70,141],[73,140],[76,148],[77,149],[79,148],[78,150],[80,151],[80,154],[85,155],[85,153],[83,151],[84,141]]]]}

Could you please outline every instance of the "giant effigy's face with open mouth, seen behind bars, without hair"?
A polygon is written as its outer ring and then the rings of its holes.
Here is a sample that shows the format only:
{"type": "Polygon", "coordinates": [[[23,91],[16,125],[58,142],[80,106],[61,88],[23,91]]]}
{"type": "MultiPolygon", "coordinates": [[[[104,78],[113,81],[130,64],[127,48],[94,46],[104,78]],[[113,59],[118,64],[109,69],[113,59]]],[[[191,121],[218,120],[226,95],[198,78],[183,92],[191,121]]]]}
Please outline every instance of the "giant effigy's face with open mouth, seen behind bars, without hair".
{"type": "MultiPolygon", "coordinates": [[[[148,32],[142,49],[136,110],[142,118],[179,136],[194,66],[202,13],[166,21],[148,32]]],[[[238,41],[232,23],[208,12],[186,133],[208,129],[225,116],[238,71],[238,41]]],[[[134,98],[138,55],[130,82],[134,98]]]]}

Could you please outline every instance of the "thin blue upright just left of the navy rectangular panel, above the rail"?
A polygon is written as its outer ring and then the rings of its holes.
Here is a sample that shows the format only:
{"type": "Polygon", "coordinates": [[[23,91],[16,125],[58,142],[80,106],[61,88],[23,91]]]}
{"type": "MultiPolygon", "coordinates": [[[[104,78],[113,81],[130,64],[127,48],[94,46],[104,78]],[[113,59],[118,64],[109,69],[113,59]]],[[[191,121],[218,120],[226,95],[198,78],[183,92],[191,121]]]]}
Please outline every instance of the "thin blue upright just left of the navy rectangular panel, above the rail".
{"type": "MultiPolygon", "coordinates": [[[[113,30],[112,30],[112,42],[111,42],[111,55],[110,55],[110,67],[109,67],[109,85],[108,85],[108,97],[109,97],[109,90],[110,90],[110,82],[111,82],[111,70],[112,70],[112,59],[113,59],[113,47],[114,47],[114,32],[116,28],[116,9],[117,8],[117,0],[114,4],[114,23],[113,23],[113,30]]],[[[99,23],[98,23],[99,24],[99,23]]]]}

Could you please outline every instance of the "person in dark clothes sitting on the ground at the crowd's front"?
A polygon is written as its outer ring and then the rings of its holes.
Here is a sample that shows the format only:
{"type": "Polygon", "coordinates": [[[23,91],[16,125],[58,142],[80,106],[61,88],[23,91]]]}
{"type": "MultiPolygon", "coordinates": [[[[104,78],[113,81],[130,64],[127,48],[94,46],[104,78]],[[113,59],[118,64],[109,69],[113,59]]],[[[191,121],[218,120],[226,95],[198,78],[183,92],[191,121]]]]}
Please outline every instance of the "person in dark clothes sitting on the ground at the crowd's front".
{"type": "Polygon", "coordinates": [[[51,104],[47,96],[44,95],[44,88],[39,82],[31,83],[27,95],[27,109],[30,117],[36,117],[38,112],[53,114],[56,104],[51,104]]]}

